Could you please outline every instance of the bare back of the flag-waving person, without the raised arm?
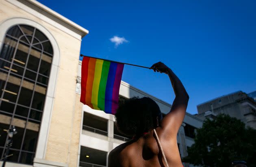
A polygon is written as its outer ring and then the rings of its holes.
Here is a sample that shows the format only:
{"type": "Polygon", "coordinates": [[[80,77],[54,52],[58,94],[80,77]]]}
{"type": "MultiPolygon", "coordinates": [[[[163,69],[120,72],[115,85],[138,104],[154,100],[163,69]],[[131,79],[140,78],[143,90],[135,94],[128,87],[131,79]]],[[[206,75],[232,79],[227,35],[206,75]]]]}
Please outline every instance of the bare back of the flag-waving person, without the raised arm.
{"type": "MultiPolygon", "coordinates": [[[[165,141],[161,127],[156,132],[163,147],[169,167],[182,167],[177,139],[165,141]]],[[[112,150],[108,156],[109,167],[165,167],[163,155],[153,130],[112,150]]]]}

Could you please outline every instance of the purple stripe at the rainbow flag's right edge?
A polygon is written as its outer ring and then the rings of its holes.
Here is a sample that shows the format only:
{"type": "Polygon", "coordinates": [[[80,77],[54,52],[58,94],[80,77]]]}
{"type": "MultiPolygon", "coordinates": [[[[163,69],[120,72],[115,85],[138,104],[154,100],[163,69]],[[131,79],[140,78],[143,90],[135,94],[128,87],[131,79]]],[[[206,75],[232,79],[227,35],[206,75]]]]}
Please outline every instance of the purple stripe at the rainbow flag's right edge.
{"type": "Polygon", "coordinates": [[[121,84],[122,73],[124,69],[124,64],[117,64],[117,70],[115,73],[115,82],[113,87],[112,93],[112,114],[115,115],[117,108],[118,108],[118,101],[119,101],[119,89],[121,84]]]}

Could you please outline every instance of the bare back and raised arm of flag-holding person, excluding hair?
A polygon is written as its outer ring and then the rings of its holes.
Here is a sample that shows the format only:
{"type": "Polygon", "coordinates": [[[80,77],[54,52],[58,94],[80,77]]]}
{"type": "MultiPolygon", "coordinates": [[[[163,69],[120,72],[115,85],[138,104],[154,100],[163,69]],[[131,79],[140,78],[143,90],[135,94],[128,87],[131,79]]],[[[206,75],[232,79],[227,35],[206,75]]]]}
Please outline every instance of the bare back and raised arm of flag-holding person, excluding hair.
{"type": "MultiPolygon", "coordinates": [[[[168,74],[176,95],[171,110],[159,121],[156,133],[169,167],[182,167],[177,144],[178,130],[186,114],[189,95],[180,79],[165,64],[152,65],[154,72],[168,74]]],[[[119,145],[108,155],[109,167],[164,167],[165,161],[153,130],[119,145]]]]}

